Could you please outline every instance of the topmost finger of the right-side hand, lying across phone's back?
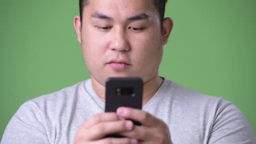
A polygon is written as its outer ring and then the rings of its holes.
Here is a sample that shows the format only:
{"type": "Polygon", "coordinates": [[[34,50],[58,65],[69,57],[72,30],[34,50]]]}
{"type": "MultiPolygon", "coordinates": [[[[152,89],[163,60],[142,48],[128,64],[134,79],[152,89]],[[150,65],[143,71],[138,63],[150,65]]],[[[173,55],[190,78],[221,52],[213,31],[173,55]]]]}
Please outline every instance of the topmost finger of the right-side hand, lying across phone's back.
{"type": "Polygon", "coordinates": [[[117,115],[141,122],[142,125],[149,127],[159,123],[159,119],[150,115],[148,112],[139,109],[133,109],[131,107],[119,107],[117,109],[117,115]]]}

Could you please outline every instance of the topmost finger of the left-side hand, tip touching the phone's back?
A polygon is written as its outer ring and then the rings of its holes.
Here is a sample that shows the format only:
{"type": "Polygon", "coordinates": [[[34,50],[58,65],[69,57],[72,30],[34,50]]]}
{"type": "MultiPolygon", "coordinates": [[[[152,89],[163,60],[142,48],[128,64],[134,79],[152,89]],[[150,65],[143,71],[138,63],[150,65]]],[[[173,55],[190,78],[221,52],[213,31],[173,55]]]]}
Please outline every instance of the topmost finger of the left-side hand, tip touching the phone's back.
{"type": "Polygon", "coordinates": [[[100,122],[109,122],[109,121],[118,121],[120,118],[118,117],[117,113],[115,112],[106,112],[100,113],[97,115],[92,116],[87,122],[85,122],[82,127],[90,128],[93,125],[100,123],[100,122]]]}

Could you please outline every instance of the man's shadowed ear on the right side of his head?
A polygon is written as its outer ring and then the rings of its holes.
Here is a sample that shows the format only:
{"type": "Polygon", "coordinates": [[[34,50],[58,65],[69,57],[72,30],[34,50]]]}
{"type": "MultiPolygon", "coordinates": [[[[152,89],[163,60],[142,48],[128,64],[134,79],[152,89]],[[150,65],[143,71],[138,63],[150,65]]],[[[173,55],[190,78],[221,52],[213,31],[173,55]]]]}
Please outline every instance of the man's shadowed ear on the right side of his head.
{"type": "Polygon", "coordinates": [[[162,44],[165,45],[168,42],[168,38],[172,31],[173,21],[170,17],[166,17],[162,23],[162,44]]]}

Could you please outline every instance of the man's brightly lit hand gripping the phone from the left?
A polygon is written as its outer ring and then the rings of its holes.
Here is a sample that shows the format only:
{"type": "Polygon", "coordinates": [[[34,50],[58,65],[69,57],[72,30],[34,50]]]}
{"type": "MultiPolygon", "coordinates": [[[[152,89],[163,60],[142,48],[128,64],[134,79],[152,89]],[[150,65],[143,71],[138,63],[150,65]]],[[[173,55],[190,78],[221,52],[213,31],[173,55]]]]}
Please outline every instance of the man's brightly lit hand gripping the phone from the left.
{"type": "Polygon", "coordinates": [[[133,128],[134,125],[131,121],[120,118],[117,113],[101,113],[91,117],[79,127],[74,143],[137,143],[137,140],[129,137],[104,138],[106,135],[124,133],[133,128]]]}

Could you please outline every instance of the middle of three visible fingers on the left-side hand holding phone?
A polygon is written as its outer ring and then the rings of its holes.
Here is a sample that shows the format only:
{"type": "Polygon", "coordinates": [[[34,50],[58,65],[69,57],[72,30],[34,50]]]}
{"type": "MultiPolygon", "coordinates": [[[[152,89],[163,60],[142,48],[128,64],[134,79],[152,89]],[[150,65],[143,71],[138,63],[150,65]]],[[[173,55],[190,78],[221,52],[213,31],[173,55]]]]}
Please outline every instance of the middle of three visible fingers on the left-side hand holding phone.
{"type": "Polygon", "coordinates": [[[97,140],[109,134],[130,131],[133,127],[134,125],[131,121],[102,122],[86,129],[84,135],[87,135],[88,140],[97,140]]]}

